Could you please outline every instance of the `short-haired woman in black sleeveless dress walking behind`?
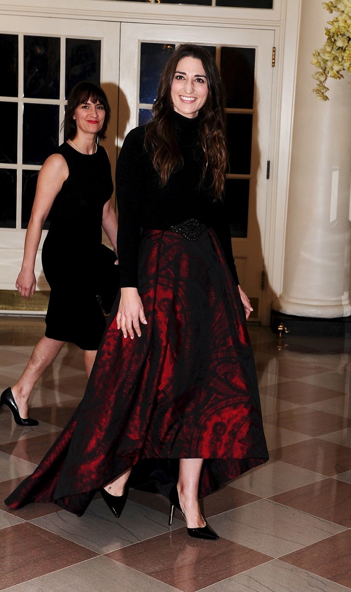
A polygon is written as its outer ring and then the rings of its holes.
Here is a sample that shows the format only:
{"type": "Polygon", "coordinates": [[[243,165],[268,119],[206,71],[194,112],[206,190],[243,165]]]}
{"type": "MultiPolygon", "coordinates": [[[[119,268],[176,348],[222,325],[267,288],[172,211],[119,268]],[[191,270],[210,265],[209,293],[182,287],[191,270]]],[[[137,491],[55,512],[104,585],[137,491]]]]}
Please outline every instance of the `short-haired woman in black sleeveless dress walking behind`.
{"type": "Polygon", "coordinates": [[[50,212],[50,228],[41,253],[50,297],[45,336],[35,346],[21,377],[0,397],[0,408],[9,407],[19,426],[37,425],[37,420],[27,417],[28,398],[66,342],[84,350],[89,377],[106,329],[100,305],[106,258],[111,259],[111,285],[115,284],[118,291],[118,278],[113,279],[116,257],[103,248],[101,230],[103,227],[116,252],[111,165],[105,148],[98,145],[106,137],[110,116],[108,99],[100,86],[92,82],[74,86],[64,117],[67,141],[45,160],[38,175],[16,288],[24,298],[34,294],[35,258],[50,212]]]}

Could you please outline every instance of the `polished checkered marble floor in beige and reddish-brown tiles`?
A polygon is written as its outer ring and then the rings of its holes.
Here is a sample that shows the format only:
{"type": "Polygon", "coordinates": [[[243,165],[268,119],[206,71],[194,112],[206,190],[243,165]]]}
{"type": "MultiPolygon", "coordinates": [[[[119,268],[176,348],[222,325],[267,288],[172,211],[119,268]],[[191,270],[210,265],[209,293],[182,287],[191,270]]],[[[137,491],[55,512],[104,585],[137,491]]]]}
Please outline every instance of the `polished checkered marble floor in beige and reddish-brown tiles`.
{"type": "MultiPolygon", "coordinates": [[[[43,328],[0,317],[1,391],[43,328]]],[[[136,490],[118,520],[99,496],[81,518],[54,504],[6,508],[82,397],[82,353],[65,346],[32,394],[39,426],[0,414],[0,590],[351,590],[350,340],[250,334],[271,458],[205,498],[216,542],[189,538],[180,514],[170,529],[167,500],[136,490]]]]}

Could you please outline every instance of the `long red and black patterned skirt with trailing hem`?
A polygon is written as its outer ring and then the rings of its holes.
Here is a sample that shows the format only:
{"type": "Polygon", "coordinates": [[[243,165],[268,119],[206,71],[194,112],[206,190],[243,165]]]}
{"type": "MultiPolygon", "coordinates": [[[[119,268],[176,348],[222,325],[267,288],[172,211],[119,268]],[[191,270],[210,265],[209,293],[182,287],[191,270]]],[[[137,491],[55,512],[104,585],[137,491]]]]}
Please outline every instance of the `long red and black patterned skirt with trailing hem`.
{"type": "MultiPolygon", "coordinates": [[[[139,293],[147,325],[124,338],[112,311],[85,396],[5,500],[83,514],[133,466],[132,487],[167,495],[180,458],[203,458],[199,496],[268,459],[255,364],[238,288],[216,237],[145,230],[139,293]]],[[[89,323],[89,318],[86,319],[89,323]]]]}

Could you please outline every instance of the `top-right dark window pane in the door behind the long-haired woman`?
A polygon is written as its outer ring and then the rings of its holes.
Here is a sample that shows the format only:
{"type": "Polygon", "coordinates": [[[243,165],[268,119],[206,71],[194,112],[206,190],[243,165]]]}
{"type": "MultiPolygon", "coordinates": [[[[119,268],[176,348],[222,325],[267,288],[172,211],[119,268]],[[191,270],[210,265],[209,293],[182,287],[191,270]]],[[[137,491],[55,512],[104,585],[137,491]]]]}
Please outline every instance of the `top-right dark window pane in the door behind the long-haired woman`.
{"type": "Polygon", "coordinates": [[[226,89],[226,107],[254,107],[255,49],[222,47],[220,73],[226,89]]]}

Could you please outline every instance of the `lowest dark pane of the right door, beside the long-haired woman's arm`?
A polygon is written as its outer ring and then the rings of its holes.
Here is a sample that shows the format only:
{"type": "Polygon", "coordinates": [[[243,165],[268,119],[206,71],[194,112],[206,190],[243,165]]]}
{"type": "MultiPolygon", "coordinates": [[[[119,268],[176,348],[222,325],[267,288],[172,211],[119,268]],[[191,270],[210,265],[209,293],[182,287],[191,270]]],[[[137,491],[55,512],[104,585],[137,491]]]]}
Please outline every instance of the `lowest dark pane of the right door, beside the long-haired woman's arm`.
{"type": "Polygon", "coordinates": [[[248,236],[249,186],[249,179],[226,180],[226,205],[233,237],[248,236]]]}

